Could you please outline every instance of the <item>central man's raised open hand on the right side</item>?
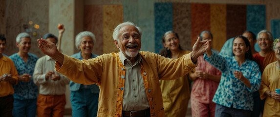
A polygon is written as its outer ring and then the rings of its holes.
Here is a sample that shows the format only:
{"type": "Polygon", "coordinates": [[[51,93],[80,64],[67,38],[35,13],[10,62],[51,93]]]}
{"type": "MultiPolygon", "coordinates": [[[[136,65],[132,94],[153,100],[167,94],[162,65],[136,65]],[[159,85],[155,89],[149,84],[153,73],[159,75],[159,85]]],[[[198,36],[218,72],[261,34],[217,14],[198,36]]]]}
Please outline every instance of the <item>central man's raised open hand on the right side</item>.
{"type": "Polygon", "coordinates": [[[207,50],[211,48],[209,40],[200,41],[200,37],[197,38],[193,46],[193,52],[191,55],[192,61],[196,62],[197,58],[204,54],[207,50]]]}

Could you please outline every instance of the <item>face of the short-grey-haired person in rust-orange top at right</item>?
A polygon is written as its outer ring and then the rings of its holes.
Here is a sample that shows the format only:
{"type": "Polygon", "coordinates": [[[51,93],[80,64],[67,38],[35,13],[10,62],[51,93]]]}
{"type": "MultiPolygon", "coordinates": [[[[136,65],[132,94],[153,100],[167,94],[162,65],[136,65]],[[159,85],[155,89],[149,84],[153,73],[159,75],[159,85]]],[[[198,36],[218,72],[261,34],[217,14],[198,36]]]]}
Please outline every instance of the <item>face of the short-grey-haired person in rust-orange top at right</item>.
{"type": "Polygon", "coordinates": [[[261,51],[269,51],[271,49],[272,41],[266,33],[259,34],[258,46],[261,51]]]}

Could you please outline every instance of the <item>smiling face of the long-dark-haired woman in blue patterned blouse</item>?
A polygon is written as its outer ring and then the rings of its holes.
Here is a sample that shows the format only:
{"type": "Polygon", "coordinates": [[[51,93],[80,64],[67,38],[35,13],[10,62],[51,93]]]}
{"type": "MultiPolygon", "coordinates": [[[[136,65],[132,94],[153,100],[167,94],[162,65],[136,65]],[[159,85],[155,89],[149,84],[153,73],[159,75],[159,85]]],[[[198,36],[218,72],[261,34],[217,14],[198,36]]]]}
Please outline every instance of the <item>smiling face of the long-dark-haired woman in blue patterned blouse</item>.
{"type": "Polygon", "coordinates": [[[233,42],[233,53],[236,57],[244,57],[249,50],[249,46],[246,47],[245,41],[242,38],[236,38],[233,42]]]}

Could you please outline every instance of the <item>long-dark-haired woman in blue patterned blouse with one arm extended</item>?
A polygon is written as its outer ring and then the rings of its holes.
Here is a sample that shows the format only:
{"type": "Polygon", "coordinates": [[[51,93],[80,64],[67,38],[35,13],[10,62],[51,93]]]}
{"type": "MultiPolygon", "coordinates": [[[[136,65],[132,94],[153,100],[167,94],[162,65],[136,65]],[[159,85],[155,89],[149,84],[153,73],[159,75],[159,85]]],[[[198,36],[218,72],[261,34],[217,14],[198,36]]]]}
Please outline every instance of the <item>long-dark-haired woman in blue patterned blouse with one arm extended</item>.
{"type": "Polygon", "coordinates": [[[204,54],[204,59],[222,72],[213,98],[215,117],[250,117],[253,111],[253,92],[259,89],[261,74],[249,40],[243,36],[235,37],[233,53],[233,57],[212,52],[204,54]]]}

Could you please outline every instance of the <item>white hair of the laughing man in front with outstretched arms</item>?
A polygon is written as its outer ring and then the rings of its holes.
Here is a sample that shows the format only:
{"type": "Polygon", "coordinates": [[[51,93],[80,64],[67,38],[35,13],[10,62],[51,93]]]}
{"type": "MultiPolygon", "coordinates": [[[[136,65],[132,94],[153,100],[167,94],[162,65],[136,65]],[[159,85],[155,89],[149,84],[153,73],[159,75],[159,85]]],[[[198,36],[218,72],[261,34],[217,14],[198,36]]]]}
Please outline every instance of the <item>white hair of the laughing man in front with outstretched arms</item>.
{"type": "Polygon", "coordinates": [[[141,31],[140,27],[136,26],[134,23],[132,23],[132,22],[130,22],[130,21],[127,21],[127,22],[120,23],[120,24],[114,29],[114,32],[113,32],[113,39],[114,39],[114,40],[117,40],[118,42],[120,42],[120,41],[119,41],[120,29],[121,29],[123,26],[126,26],[126,25],[131,25],[131,26],[134,26],[135,28],[137,28],[138,32],[140,33],[140,37],[142,36],[142,31],[141,31]]]}

